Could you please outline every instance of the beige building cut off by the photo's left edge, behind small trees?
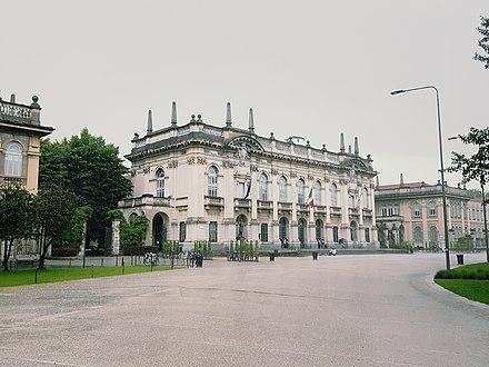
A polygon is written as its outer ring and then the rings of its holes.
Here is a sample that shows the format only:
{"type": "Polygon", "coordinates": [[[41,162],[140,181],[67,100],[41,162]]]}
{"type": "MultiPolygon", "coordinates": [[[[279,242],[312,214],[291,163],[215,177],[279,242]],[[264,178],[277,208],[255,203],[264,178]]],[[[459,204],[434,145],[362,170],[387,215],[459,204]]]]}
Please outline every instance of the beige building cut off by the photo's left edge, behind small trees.
{"type": "MultiPolygon", "coordinates": [[[[14,95],[10,101],[0,97],[0,185],[19,184],[33,194],[38,191],[40,139],[54,130],[41,126],[38,100],[33,96],[32,103],[21,105],[14,95]]],[[[34,241],[20,241],[14,245],[13,258],[37,252],[34,241]]]]}

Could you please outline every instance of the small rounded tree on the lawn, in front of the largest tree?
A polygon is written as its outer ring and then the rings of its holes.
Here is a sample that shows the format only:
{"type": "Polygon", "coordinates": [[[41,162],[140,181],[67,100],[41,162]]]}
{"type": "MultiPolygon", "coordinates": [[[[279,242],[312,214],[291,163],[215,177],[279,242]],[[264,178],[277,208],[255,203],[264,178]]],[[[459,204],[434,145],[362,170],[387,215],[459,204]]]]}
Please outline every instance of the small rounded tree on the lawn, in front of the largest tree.
{"type": "Polygon", "coordinates": [[[60,244],[72,230],[77,214],[77,197],[60,188],[42,189],[36,197],[36,222],[39,234],[39,269],[44,268],[46,255],[53,244],[60,244]]]}

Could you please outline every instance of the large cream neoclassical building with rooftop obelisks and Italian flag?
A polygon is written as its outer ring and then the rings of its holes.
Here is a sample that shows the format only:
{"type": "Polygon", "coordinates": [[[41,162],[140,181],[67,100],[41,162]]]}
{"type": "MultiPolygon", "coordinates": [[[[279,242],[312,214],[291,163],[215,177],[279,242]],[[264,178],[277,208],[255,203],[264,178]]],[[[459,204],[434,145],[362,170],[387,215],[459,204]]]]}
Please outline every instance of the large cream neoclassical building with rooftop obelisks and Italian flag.
{"type": "Polygon", "coordinates": [[[339,151],[276,139],[234,127],[227,105],[223,126],[200,115],[179,125],[172,103],[170,125],[153,129],[151,111],[144,136],[134,135],[131,162],[133,196],[119,204],[124,216],[151,221],[146,245],[164,240],[317,247],[318,242],[377,246],[370,156],[358,139],[339,151]],[[309,205],[308,205],[309,204],[309,205]]]}

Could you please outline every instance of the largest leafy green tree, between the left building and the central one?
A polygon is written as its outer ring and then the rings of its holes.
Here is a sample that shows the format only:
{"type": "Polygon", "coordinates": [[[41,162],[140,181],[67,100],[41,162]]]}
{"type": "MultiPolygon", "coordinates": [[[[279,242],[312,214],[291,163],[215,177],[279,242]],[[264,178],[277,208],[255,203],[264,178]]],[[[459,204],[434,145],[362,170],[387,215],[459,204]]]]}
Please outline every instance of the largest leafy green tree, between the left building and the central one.
{"type": "Polygon", "coordinates": [[[106,215],[132,191],[124,177],[128,168],[119,159],[119,149],[83,129],[70,140],[41,143],[41,188],[57,184],[77,195],[82,205],[93,209],[87,222],[87,235],[104,242],[106,215]]]}

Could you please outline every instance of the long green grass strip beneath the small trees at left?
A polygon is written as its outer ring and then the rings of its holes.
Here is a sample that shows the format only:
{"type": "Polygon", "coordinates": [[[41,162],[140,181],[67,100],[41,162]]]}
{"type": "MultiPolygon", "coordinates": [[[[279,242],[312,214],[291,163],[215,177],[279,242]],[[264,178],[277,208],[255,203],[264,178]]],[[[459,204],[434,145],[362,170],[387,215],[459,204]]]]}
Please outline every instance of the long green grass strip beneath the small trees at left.
{"type": "MultiPolygon", "coordinates": [[[[151,267],[131,266],[124,267],[124,274],[151,271],[151,267]]],[[[153,267],[152,271],[169,270],[169,267],[153,267]]],[[[87,267],[87,268],[49,268],[38,272],[39,282],[54,282],[87,278],[100,278],[122,275],[122,267],[87,267]]],[[[0,271],[0,287],[33,285],[36,270],[0,271]]]]}

